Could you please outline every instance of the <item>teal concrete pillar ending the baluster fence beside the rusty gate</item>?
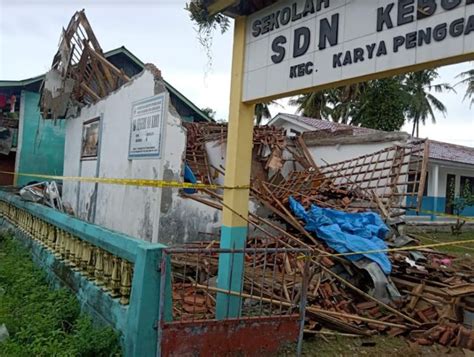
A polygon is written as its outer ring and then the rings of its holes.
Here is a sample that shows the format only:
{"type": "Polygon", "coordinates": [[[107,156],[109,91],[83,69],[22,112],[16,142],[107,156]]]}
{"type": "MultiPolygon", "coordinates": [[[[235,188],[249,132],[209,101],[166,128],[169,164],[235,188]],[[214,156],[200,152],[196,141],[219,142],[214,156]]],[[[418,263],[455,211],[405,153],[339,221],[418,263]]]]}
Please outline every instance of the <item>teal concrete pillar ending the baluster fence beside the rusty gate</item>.
{"type": "Polygon", "coordinates": [[[162,245],[138,247],[125,336],[126,356],[156,356],[160,305],[166,309],[165,318],[170,319],[172,301],[169,285],[164,294],[165,301],[160,304],[162,294],[159,267],[163,248],[162,245]]]}

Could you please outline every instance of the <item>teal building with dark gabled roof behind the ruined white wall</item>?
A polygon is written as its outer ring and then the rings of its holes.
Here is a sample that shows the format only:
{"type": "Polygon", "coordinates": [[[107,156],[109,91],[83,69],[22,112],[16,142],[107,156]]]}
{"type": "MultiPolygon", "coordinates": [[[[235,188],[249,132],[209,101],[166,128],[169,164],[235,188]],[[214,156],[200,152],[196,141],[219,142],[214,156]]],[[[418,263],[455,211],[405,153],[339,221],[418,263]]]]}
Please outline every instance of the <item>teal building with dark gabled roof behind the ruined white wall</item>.
{"type": "MultiPolygon", "coordinates": [[[[143,70],[144,64],[125,47],[107,51],[103,55],[129,77],[143,70]]],[[[44,79],[45,75],[24,80],[0,80],[0,128],[5,134],[0,167],[1,171],[16,173],[0,174],[2,185],[23,186],[43,180],[34,174],[63,174],[65,121],[43,118],[38,104],[44,79]]],[[[174,88],[173,91],[183,97],[174,88]]],[[[193,120],[190,113],[187,118],[193,120]]]]}

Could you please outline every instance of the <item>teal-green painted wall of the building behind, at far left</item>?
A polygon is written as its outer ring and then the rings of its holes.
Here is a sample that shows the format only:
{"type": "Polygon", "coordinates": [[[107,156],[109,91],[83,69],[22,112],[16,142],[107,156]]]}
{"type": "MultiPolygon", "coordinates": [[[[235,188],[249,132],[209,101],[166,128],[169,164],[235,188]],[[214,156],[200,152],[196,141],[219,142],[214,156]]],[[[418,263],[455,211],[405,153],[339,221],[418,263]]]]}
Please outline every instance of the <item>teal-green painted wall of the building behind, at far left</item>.
{"type": "MultiPolygon", "coordinates": [[[[21,92],[23,120],[21,148],[17,155],[18,173],[62,175],[64,163],[65,120],[44,120],[39,112],[39,94],[21,92]]],[[[35,177],[18,176],[16,184],[43,181],[35,177]]]]}

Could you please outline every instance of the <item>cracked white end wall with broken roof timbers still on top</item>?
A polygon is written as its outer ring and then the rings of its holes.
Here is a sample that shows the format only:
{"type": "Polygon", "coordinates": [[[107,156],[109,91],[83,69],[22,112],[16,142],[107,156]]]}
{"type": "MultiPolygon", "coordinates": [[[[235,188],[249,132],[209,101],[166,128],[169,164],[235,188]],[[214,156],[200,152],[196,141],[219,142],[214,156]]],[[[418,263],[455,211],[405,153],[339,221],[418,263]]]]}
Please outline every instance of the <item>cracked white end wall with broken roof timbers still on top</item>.
{"type": "MultiPolygon", "coordinates": [[[[124,47],[108,55],[84,11],[75,13],[40,97],[43,117],[64,122],[63,175],[183,181],[181,124],[210,119],[155,66],[124,47]]],[[[63,201],[85,221],[150,242],[186,241],[219,225],[215,212],[183,203],[172,188],[64,180],[63,201]]]]}

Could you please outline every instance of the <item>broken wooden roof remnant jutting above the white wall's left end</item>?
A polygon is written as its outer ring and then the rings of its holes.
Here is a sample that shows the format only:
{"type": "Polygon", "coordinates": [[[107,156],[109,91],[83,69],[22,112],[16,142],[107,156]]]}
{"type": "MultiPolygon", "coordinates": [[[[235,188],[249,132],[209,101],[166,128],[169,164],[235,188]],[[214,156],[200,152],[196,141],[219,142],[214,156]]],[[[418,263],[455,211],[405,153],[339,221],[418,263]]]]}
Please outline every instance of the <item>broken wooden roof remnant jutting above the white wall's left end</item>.
{"type": "Polygon", "coordinates": [[[63,29],[58,52],[42,85],[40,110],[45,119],[73,116],[130,78],[105,57],[84,10],[63,29]]]}

